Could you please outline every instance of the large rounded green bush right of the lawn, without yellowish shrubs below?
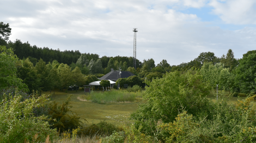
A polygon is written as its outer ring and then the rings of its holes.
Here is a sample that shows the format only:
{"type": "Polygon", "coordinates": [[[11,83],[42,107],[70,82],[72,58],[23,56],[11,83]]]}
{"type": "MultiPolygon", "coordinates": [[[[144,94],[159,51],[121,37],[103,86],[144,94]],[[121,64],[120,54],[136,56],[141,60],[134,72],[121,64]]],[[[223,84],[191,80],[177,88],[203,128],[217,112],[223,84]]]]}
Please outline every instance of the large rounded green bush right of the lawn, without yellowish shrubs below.
{"type": "Polygon", "coordinates": [[[132,114],[136,127],[142,125],[145,133],[154,134],[156,122],[174,121],[182,106],[190,114],[212,118],[211,104],[204,98],[210,88],[202,81],[202,75],[193,70],[184,74],[167,73],[163,78],[153,80],[143,96],[147,103],[140,105],[132,114]]]}

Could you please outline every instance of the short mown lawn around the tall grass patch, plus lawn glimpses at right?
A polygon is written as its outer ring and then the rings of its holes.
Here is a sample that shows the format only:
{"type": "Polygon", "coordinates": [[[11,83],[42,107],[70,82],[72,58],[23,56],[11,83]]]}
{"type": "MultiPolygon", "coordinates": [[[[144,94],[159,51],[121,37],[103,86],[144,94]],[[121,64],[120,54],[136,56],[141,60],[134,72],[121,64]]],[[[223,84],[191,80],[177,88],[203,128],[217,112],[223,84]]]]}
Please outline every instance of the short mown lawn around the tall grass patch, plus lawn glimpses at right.
{"type": "MultiPolygon", "coordinates": [[[[100,92],[100,91],[96,91],[100,92]]],[[[70,105],[72,106],[71,111],[77,113],[81,118],[86,119],[87,125],[97,124],[102,120],[110,122],[117,126],[123,126],[125,124],[130,124],[132,121],[129,120],[130,114],[138,108],[138,105],[145,102],[142,98],[136,98],[135,102],[125,102],[125,103],[107,103],[99,104],[87,101],[78,100],[78,96],[83,96],[84,92],[80,90],[68,90],[67,92],[61,92],[59,90],[55,91],[55,94],[48,92],[42,92],[44,94],[52,94],[52,101],[64,102],[69,95],[71,96],[70,105]]],[[[87,93],[88,94],[88,93],[87,93]]],[[[228,96],[229,92],[224,93],[228,96]]],[[[218,92],[218,98],[221,98],[221,91],[218,92]]],[[[237,99],[245,99],[245,94],[239,94],[240,97],[231,97],[230,102],[235,103],[237,99]]],[[[216,101],[216,91],[210,92],[208,98],[216,101]]]]}

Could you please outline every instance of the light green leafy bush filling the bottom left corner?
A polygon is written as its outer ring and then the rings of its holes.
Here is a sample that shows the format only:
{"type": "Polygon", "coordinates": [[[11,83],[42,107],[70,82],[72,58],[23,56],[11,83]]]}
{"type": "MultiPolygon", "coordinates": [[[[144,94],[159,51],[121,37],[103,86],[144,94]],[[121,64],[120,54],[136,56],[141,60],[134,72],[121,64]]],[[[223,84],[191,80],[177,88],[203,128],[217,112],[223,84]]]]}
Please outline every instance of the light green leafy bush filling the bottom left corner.
{"type": "MultiPolygon", "coordinates": [[[[19,92],[16,92],[19,93],[19,92]]],[[[0,140],[1,142],[36,142],[45,141],[47,135],[50,139],[57,138],[56,129],[50,129],[46,116],[34,116],[35,107],[44,106],[47,103],[47,95],[38,96],[22,101],[22,96],[15,94],[5,98],[0,105],[0,140]]]]}

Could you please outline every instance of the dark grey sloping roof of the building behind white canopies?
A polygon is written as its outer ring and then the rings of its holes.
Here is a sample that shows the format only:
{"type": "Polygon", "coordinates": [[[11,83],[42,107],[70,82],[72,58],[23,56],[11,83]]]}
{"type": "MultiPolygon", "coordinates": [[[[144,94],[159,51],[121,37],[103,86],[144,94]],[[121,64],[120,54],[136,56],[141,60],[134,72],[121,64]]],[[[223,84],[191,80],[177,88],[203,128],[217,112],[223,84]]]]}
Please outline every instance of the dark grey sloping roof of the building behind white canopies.
{"type": "MultiPolygon", "coordinates": [[[[129,76],[133,76],[134,74],[127,71],[121,71],[121,77],[119,78],[127,78],[129,76]]],[[[117,81],[117,71],[109,72],[106,75],[100,77],[100,80],[112,80],[117,81]]]]}

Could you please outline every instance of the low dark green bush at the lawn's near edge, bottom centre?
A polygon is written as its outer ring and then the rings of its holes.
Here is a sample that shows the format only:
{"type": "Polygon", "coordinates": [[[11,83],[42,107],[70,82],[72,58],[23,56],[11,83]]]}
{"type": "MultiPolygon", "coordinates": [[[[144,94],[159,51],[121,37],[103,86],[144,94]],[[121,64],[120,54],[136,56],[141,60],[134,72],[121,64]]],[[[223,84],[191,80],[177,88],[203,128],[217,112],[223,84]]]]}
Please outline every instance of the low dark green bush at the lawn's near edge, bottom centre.
{"type": "Polygon", "coordinates": [[[120,131],[123,131],[123,129],[113,124],[110,124],[106,121],[100,121],[98,124],[93,124],[90,126],[85,126],[80,128],[77,134],[83,135],[83,136],[89,136],[90,138],[92,138],[95,135],[108,136],[108,135],[111,135],[114,131],[120,132],[120,131]]]}

